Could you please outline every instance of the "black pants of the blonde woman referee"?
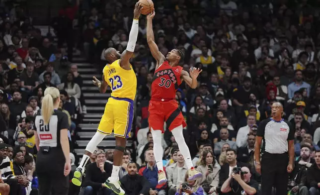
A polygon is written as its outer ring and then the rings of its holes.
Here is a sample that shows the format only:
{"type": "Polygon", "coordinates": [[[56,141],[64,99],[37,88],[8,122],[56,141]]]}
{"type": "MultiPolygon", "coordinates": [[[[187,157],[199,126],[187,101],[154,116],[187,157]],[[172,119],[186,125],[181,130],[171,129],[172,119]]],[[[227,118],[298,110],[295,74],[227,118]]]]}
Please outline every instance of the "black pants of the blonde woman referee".
{"type": "Polygon", "coordinates": [[[69,176],[64,176],[65,163],[61,148],[50,148],[45,152],[40,147],[36,162],[39,195],[68,195],[69,176]]]}

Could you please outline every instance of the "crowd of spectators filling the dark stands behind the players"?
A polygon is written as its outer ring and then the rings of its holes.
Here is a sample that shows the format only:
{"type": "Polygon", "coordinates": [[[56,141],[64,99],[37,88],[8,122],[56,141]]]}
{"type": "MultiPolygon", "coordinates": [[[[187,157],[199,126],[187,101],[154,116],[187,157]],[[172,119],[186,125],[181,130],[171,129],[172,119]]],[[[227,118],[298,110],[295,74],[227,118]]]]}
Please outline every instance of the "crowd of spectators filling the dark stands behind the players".
{"type": "MultiPolygon", "coordinates": [[[[183,194],[225,194],[222,186],[233,167],[245,170],[245,183],[252,184],[259,194],[261,176],[253,163],[255,135],[260,121],[271,117],[272,103],[279,101],[284,106],[283,118],[295,129],[296,161],[288,192],[320,195],[320,1],[154,3],[154,33],[160,52],[166,55],[179,48],[185,53],[181,64],[184,70],[203,70],[197,89],[182,84],[176,92],[187,121],[185,140],[203,178],[187,181],[183,157],[174,137],[165,131],[162,147],[168,182],[158,185],[148,125],[155,60],[146,42],[146,18],[141,16],[132,59],[138,80],[132,130],[136,144],[125,152],[119,173],[126,194],[181,195],[181,185],[186,182],[190,190],[183,194]]],[[[53,22],[58,45],[33,27],[23,7],[5,4],[0,40],[0,137],[9,145],[0,144],[0,183],[7,182],[10,195],[36,193],[37,150],[32,123],[40,111],[44,90],[61,90],[60,109],[70,116],[71,134],[80,121],[75,116],[85,113],[82,79],[77,66],[69,63],[74,43],[102,71],[107,63],[103,57],[106,48],[120,52],[126,48],[134,4],[134,0],[77,0],[63,8],[53,22]],[[79,40],[72,39],[76,20],[79,40]],[[12,191],[17,186],[21,192],[12,191]]],[[[72,155],[73,170],[75,161],[72,155]]],[[[71,184],[69,194],[112,194],[102,185],[111,175],[112,161],[113,150],[97,148],[87,165],[81,190],[71,184]]],[[[2,184],[0,193],[4,195],[8,187],[2,184]]]]}

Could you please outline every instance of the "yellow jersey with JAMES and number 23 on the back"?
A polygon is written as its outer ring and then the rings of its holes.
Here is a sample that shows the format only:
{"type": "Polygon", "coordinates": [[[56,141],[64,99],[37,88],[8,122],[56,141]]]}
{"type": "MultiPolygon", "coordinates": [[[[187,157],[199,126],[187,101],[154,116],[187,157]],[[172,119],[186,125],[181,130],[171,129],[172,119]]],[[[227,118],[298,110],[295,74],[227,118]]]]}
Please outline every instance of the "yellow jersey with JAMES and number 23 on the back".
{"type": "Polygon", "coordinates": [[[120,60],[114,61],[103,68],[104,80],[110,86],[111,96],[134,100],[137,92],[137,77],[130,65],[130,70],[120,67],[120,60]]]}

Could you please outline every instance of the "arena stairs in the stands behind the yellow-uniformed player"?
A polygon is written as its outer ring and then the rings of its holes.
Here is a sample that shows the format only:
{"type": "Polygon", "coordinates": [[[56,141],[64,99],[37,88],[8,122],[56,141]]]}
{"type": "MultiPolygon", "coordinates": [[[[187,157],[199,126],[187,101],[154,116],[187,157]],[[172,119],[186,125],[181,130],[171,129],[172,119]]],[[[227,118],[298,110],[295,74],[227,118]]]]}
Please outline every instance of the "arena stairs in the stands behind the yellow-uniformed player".
{"type": "MultiPolygon", "coordinates": [[[[75,147],[76,155],[79,156],[81,160],[86,145],[97,130],[105,104],[111,96],[111,90],[108,88],[105,94],[99,93],[98,88],[92,83],[92,77],[95,76],[97,79],[101,80],[101,73],[99,73],[92,64],[86,63],[85,59],[79,54],[75,54],[73,64],[78,66],[78,72],[83,79],[81,90],[87,107],[87,113],[83,115],[83,120],[79,125],[81,130],[78,132],[76,140],[77,145],[75,147]]],[[[128,140],[127,147],[132,147],[132,144],[132,141],[128,140]]],[[[106,136],[98,147],[104,148],[105,150],[113,149],[115,147],[114,136],[106,136]]]]}

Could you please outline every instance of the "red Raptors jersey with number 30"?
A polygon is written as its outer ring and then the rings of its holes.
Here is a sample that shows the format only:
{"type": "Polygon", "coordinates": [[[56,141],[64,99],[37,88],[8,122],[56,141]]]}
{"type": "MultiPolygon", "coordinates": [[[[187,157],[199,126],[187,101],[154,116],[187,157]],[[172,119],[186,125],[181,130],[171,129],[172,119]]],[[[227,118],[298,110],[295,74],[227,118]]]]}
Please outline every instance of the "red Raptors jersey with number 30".
{"type": "Polygon", "coordinates": [[[171,67],[164,61],[156,70],[151,84],[151,99],[167,101],[175,99],[175,92],[181,84],[181,66],[171,67]]]}

